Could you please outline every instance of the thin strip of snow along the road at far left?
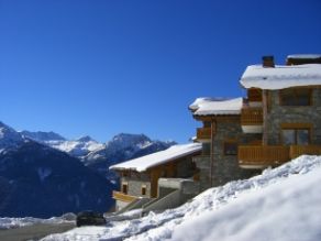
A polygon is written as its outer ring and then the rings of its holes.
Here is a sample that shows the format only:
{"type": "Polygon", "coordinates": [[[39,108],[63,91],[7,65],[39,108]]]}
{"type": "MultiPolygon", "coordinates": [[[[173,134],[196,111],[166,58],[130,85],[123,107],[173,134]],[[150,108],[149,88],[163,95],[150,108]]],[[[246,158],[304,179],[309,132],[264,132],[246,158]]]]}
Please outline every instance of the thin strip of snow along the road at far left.
{"type": "Polygon", "coordinates": [[[15,229],[24,226],[33,226],[37,223],[56,224],[63,222],[75,222],[76,216],[74,213],[66,213],[62,217],[53,217],[49,219],[41,218],[0,218],[0,230],[1,229],[15,229]]]}

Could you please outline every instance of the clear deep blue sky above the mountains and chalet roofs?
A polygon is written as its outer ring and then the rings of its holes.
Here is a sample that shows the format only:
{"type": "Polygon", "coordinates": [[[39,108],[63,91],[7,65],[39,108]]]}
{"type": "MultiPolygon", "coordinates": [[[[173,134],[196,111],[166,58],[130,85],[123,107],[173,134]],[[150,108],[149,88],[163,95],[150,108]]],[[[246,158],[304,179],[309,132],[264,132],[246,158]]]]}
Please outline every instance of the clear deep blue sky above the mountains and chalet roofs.
{"type": "Polygon", "coordinates": [[[186,142],[197,97],[244,95],[263,55],[321,53],[320,0],[0,0],[0,120],[186,142]]]}

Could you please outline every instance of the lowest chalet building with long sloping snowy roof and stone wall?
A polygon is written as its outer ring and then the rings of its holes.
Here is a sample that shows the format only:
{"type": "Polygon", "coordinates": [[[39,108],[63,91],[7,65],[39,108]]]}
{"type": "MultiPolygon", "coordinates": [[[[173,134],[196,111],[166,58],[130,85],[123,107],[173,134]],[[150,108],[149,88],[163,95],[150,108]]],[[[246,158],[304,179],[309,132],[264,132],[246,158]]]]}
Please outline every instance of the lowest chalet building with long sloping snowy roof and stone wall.
{"type": "Polygon", "coordinates": [[[175,178],[196,178],[198,169],[192,158],[200,152],[201,145],[198,143],[174,145],[165,151],[111,166],[121,177],[120,190],[113,191],[117,211],[133,202],[139,202],[135,208],[140,208],[175,189],[163,188],[159,191],[159,178],[168,178],[169,186],[175,183],[175,178]]]}

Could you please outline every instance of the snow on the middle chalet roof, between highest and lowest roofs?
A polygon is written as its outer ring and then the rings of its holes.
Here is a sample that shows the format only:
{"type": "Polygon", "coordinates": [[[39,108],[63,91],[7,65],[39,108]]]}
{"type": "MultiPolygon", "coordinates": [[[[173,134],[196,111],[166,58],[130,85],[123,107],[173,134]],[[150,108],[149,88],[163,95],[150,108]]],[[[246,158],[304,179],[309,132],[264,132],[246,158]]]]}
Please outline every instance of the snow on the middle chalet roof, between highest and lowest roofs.
{"type": "MultiPolygon", "coordinates": [[[[197,99],[198,100],[198,99],[197,99]]],[[[197,102],[197,100],[195,102],[197,102]]],[[[195,102],[192,105],[195,105],[195,102]]],[[[192,106],[191,105],[191,106],[192,106]]],[[[209,114],[240,114],[243,106],[243,98],[234,99],[203,99],[199,101],[196,108],[195,116],[209,116],[209,114]]]]}

